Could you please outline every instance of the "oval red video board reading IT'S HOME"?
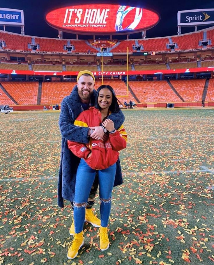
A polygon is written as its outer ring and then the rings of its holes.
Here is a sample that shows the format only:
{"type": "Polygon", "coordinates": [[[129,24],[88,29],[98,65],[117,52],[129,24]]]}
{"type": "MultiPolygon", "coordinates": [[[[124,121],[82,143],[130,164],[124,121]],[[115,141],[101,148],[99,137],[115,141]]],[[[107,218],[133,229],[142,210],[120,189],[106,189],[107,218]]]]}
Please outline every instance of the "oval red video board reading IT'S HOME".
{"type": "Polygon", "coordinates": [[[79,34],[128,34],[158,24],[158,13],[140,7],[87,4],[58,8],[45,15],[55,29],[79,34]]]}

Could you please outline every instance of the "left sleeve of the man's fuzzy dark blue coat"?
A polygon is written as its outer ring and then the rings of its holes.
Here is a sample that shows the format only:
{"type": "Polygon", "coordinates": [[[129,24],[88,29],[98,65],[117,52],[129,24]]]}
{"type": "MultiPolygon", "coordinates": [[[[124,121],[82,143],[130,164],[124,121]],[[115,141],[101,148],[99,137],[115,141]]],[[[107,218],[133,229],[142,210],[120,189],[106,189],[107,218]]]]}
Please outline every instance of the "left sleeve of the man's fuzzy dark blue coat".
{"type": "Polygon", "coordinates": [[[66,98],[61,103],[61,112],[59,116],[59,129],[61,135],[66,140],[88,143],[88,131],[87,127],[78,127],[74,125],[74,120],[70,118],[69,107],[66,102],[66,98]]]}

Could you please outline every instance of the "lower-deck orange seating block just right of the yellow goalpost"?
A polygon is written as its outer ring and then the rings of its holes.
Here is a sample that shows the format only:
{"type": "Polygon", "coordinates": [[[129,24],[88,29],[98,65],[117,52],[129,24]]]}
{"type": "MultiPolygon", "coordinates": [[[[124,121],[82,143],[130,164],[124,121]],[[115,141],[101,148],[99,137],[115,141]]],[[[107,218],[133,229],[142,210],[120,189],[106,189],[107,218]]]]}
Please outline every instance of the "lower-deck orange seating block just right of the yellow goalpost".
{"type": "Polygon", "coordinates": [[[129,86],[141,103],[181,102],[167,81],[130,81],[129,86]]]}

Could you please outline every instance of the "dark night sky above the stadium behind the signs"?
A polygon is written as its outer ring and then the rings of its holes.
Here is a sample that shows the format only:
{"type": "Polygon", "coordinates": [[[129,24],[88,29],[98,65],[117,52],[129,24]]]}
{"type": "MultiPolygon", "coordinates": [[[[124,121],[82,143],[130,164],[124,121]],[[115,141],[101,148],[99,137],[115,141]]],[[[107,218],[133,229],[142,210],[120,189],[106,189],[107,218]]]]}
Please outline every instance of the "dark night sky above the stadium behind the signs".
{"type": "MultiPolygon", "coordinates": [[[[78,1],[78,4],[84,3],[102,3],[102,1],[78,1]]],[[[1,0],[1,8],[15,8],[24,10],[24,21],[25,21],[25,34],[32,36],[57,38],[58,31],[51,28],[44,20],[44,14],[50,9],[55,7],[61,7],[66,5],[72,5],[77,1],[66,1],[66,0],[37,0],[37,1],[26,1],[26,0],[1,0]]],[[[177,12],[179,10],[189,9],[202,9],[202,8],[213,8],[213,0],[201,1],[201,0],[179,0],[179,1],[158,1],[158,0],[145,0],[145,1],[106,1],[106,3],[118,3],[123,5],[137,6],[150,8],[157,11],[160,14],[160,22],[158,25],[146,31],[147,38],[164,37],[170,35],[177,35],[177,12]]],[[[207,27],[207,26],[206,26],[207,27]]],[[[198,27],[198,30],[206,28],[198,27]]],[[[3,27],[0,27],[3,29],[3,27]]],[[[13,31],[20,33],[19,28],[6,27],[7,31],[13,31]]],[[[194,27],[182,28],[182,33],[194,31],[194,27]]],[[[97,37],[97,36],[96,36],[97,37]]],[[[102,38],[102,36],[99,36],[102,38]]],[[[76,35],[63,33],[63,38],[76,38],[76,35]]],[[[79,38],[84,38],[79,35],[79,38]]],[[[92,36],[85,36],[85,39],[91,39],[92,36]]],[[[105,37],[103,37],[105,38],[105,37]]],[[[106,36],[107,38],[107,36],[106,36]]],[[[126,35],[120,35],[113,37],[114,39],[124,39],[126,35]]],[[[135,33],[130,35],[130,38],[141,38],[141,33],[135,33]]]]}

